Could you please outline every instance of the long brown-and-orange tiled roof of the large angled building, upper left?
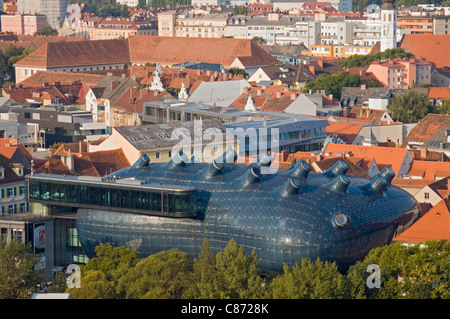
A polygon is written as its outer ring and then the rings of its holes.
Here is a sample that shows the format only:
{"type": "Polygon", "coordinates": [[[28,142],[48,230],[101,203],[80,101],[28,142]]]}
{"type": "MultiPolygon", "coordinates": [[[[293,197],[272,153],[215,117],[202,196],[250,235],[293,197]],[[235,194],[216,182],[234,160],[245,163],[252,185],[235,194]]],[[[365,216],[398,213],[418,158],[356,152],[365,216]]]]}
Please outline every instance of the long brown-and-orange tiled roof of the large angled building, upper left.
{"type": "Polygon", "coordinates": [[[15,65],[56,68],[147,62],[172,65],[188,61],[230,66],[238,57],[246,66],[279,62],[248,39],[136,35],[127,39],[46,43],[15,65]]]}

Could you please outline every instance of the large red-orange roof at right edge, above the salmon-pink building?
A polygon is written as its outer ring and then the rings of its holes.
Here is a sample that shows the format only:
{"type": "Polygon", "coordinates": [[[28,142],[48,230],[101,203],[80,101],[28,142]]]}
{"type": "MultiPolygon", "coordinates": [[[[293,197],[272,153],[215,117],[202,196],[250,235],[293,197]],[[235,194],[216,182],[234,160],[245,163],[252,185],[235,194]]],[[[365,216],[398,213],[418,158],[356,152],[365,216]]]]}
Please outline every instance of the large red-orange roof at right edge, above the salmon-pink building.
{"type": "Polygon", "coordinates": [[[438,68],[450,66],[450,35],[405,34],[400,47],[416,58],[425,58],[438,68]]]}

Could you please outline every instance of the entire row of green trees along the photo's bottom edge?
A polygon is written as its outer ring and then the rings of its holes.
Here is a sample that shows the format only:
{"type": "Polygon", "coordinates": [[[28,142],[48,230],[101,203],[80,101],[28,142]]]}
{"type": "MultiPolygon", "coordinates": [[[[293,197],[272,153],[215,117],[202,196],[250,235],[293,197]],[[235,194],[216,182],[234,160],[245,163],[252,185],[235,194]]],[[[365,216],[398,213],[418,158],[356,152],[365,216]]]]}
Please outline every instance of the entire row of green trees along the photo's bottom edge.
{"type": "MultiPolygon", "coordinates": [[[[302,259],[281,274],[262,274],[253,251],[234,240],[216,253],[205,240],[192,258],[177,249],[139,258],[124,247],[101,244],[81,266],[80,288],[53,291],[75,299],[448,299],[450,243],[399,243],[375,248],[345,273],[335,263],[302,259]]],[[[28,298],[42,273],[31,248],[0,243],[0,299],[28,298]]]]}

